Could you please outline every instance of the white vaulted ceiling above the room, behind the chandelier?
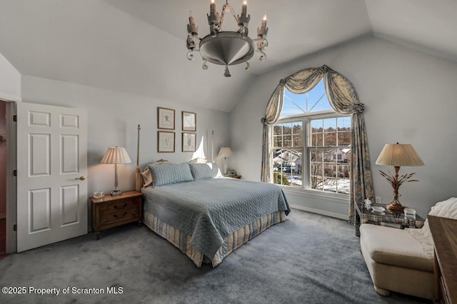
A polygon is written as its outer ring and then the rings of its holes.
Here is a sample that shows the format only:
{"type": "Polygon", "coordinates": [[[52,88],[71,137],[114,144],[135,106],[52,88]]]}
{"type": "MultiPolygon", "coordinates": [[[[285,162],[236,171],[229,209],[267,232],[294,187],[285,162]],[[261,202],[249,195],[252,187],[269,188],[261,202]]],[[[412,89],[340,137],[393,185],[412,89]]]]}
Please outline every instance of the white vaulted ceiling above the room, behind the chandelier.
{"type": "MultiPolygon", "coordinates": [[[[241,0],[230,4],[239,14],[241,0]]],[[[268,16],[268,59],[225,78],[186,59],[189,10],[208,34],[209,0],[0,0],[0,53],[21,74],[220,111],[256,75],[367,34],[457,61],[455,0],[248,0],[251,35],[268,16]]]]}

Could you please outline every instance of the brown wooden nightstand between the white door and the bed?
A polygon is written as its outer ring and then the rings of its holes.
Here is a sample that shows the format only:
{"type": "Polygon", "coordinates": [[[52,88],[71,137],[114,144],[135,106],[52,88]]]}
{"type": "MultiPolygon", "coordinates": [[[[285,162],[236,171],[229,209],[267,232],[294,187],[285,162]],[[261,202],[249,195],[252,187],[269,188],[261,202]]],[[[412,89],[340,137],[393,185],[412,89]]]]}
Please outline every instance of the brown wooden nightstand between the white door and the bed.
{"type": "Polygon", "coordinates": [[[103,198],[91,197],[92,229],[96,240],[100,239],[100,231],[126,223],[138,222],[141,227],[143,216],[143,193],[126,191],[120,196],[108,194],[103,198]]]}

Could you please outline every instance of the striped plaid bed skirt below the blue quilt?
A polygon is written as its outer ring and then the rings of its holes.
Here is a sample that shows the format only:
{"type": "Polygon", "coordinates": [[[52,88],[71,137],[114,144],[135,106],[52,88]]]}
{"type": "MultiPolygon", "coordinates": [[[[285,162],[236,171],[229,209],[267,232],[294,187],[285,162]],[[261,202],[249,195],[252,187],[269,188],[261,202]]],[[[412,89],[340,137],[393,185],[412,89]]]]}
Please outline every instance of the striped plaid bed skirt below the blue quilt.
{"type": "Polygon", "coordinates": [[[252,223],[249,223],[248,225],[227,235],[227,237],[224,238],[224,244],[221,245],[212,259],[206,257],[203,253],[191,245],[191,235],[181,233],[178,228],[164,223],[164,221],[161,221],[159,218],[154,216],[154,214],[149,213],[148,211],[144,211],[143,218],[146,226],[162,238],[168,240],[176,248],[179,248],[182,253],[187,255],[187,257],[190,258],[198,268],[200,268],[201,263],[211,263],[213,267],[216,267],[227,255],[244,243],[247,243],[248,240],[256,237],[276,223],[286,221],[286,214],[284,211],[276,211],[274,213],[267,214],[266,216],[258,218],[252,223]]]}

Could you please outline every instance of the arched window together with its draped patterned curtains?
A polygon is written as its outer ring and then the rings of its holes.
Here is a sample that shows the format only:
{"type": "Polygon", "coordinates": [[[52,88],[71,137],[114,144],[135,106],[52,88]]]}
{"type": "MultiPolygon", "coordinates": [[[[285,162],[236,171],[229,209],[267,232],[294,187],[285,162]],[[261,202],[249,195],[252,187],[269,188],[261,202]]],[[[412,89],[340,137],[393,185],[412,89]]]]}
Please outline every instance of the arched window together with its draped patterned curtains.
{"type": "Polygon", "coordinates": [[[333,182],[335,191],[343,193],[347,169],[352,221],[354,203],[374,197],[363,108],[351,81],[326,65],[281,79],[261,119],[261,181],[298,187],[301,178],[301,187],[322,192],[333,182]],[[312,100],[310,92],[315,88],[322,98],[312,100]]]}

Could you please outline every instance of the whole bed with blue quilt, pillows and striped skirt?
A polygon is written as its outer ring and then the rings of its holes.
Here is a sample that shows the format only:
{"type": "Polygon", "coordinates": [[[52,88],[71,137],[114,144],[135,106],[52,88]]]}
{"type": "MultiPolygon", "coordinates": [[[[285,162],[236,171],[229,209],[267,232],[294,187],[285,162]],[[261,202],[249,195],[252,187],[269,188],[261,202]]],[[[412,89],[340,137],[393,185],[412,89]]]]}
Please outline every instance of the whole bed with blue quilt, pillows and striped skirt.
{"type": "Polygon", "coordinates": [[[197,267],[224,258],[290,212],[280,187],[221,176],[216,163],[159,161],[141,173],[144,223],[197,267]]]}

